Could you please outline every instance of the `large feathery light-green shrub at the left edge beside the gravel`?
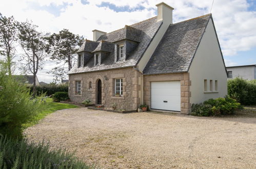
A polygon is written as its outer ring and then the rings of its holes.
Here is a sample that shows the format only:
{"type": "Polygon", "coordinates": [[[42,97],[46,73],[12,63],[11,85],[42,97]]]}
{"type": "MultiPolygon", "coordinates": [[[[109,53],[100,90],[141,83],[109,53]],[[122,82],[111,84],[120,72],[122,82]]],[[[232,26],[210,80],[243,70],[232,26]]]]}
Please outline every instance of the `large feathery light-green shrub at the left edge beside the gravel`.
{"type": "Polygon", "coordinates": [[[0,66],[0,134],[22,137],[22,124],[44,108],[41,99],[31,99],[28,89],[6,76],[7,66],[0,66]]]}

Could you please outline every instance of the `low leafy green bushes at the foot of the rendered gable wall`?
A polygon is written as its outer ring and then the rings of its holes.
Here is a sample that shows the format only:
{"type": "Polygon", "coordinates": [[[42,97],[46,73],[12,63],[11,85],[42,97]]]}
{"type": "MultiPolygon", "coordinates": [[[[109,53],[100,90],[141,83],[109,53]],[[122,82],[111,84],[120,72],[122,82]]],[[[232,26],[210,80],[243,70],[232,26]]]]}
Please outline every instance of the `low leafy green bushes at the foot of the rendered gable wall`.
{"type": "Polygon", "coordinates": [[[194,116],[216,116],[232,114],[235,110],[242,109],[237,100],[230,97],[208,99],[204,103],[192,104],[194,116]]]}

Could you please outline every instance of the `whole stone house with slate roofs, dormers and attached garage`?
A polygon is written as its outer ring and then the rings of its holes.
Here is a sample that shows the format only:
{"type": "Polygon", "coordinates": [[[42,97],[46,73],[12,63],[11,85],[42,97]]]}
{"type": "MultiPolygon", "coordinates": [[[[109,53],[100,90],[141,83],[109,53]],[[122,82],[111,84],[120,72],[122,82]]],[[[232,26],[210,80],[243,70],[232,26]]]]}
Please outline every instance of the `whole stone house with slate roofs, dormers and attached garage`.
{"type": "Polygon", "coordinates": [[[211,14],[172,23],[173,8],[106,33],[93,30],[69,71],[71,101],[189,114],[192,103],[227,94],[227,74],[211,14]]]}

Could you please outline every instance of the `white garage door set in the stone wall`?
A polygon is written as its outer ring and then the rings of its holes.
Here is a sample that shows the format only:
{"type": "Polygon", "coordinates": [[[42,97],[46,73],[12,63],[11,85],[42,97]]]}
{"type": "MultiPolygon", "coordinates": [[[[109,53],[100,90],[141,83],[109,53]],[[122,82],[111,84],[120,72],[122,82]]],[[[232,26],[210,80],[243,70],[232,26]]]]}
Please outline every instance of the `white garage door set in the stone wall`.
{"type": "Polygon", "coordinates": [[[151,82],[151,109],[181,111],[181,81],[151,82]]]}

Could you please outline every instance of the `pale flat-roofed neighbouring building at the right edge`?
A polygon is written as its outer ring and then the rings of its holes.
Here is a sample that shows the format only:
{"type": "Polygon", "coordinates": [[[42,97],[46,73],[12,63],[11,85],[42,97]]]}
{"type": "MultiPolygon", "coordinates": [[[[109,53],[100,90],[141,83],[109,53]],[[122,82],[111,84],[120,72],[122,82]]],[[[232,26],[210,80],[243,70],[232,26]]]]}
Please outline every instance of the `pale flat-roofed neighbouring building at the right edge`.
{"type": "Polygon", "coordinates": [[[226,67],[228,79],[242,77],[246,80],[256,79],[256,65],[243,65],[226,67]]]}

